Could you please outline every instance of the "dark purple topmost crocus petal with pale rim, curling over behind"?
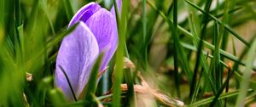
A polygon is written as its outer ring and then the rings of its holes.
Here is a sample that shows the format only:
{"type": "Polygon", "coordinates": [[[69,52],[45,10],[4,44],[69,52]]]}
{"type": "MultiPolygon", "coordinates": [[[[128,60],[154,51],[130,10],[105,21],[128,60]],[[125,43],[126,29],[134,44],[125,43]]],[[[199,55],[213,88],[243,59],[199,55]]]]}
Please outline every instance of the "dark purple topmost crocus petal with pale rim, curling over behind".
{"type": "Polygon", "coordinates": [[[100,8],[102,8],[98,3],[88,3],[84,7],[80,8],[79,11],[74,14],[72,20],[70,20],[68,27],[74,25],[79,20],[86,21],[90,18],[92,14],[95,14],[100,8]]]}

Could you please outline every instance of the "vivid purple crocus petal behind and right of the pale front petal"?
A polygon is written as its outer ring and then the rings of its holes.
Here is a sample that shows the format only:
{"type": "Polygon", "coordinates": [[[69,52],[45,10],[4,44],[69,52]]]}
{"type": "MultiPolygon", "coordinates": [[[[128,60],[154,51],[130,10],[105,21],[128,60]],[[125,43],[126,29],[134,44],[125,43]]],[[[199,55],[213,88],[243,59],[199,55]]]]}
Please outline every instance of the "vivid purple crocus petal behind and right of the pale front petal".
{"type": "Polygon", "coordinates": [[[113,14],[105,8],[98,10],[85,22],[96,37],[100,53],[105,53],[102,59],[101,71],[108,65],[116,49],[118,36],[117,32],[113,32],[116,29],[114,22],[113,14]]]}

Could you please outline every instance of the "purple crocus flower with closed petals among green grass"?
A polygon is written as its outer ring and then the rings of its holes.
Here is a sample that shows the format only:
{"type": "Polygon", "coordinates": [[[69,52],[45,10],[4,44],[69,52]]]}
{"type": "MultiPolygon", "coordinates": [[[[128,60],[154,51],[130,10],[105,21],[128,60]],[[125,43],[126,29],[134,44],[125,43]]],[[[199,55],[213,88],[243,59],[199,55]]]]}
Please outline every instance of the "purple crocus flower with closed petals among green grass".
{"type": "MultiPolygon", "coordinates": [[[[120,9],[121,0],[118,0],[120,9]]],[[[55,83],[68,100],[73,94],[60,66],[65,70],[78,98],[90,76],[91,67],[97,56],[104,53],[100,71],[104,70],[113,57],[118,44],[118,31],[114,8],[109,12],[98,3],[88,3],[73,16],[68,27],[79,23],[76,29],[61,42],[56,59],[55,83]]]]}

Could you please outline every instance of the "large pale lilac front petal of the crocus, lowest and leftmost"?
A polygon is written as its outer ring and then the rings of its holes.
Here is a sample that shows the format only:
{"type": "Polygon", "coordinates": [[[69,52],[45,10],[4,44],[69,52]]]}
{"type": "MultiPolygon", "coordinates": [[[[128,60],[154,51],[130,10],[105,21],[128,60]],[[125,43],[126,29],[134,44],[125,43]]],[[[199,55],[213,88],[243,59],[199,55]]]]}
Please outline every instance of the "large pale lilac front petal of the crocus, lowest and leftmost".
{"type": "Polygon", "coordinates": [[[77,28],[62,40],[56,59],[55,83],[66,94],[67,99],[73,100],[73,95],[59,66],[66,71],[73,91],[79,97],[98,54],[96,38],[84,22],[79,22],[77,28]]]}

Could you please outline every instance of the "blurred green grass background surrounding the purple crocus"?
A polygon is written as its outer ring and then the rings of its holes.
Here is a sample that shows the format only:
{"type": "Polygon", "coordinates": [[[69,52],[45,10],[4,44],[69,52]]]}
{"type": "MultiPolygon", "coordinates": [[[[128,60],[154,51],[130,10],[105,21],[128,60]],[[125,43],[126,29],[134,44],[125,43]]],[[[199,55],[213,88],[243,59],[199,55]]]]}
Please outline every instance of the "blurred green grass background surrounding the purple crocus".
{"type": "Polygon", "coordinates": [[[108,72],[90,99],[68,102],[55,87],[55,58],[69,20],[90,2],[113,7],[113,0],[0,0],[0,106],[177,106],[177,99],[256,106],[255,0],[123,0],[108,72]],[[123,69],[123,57],[136,69],[123,69]],[[138,72],[166,97],[133,88],[143,86],[138,72]]]}

